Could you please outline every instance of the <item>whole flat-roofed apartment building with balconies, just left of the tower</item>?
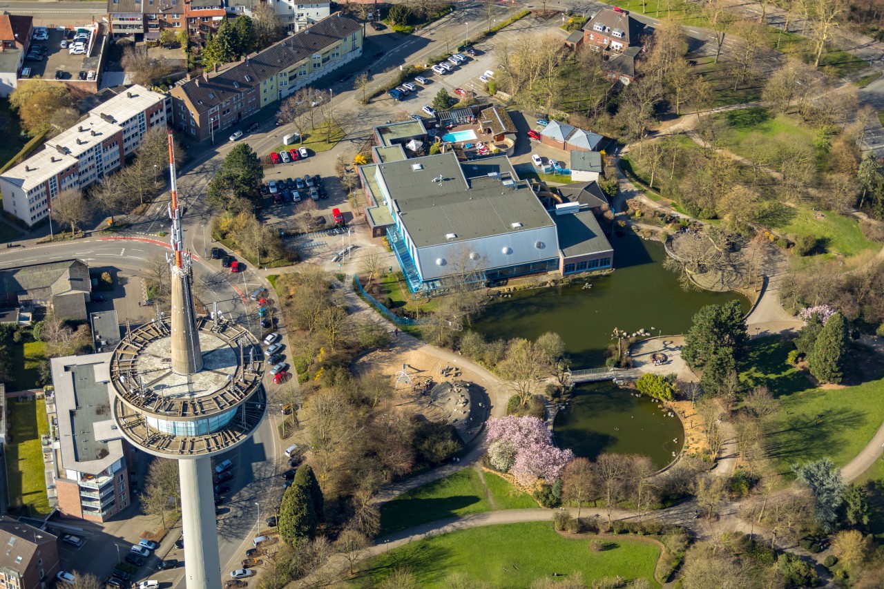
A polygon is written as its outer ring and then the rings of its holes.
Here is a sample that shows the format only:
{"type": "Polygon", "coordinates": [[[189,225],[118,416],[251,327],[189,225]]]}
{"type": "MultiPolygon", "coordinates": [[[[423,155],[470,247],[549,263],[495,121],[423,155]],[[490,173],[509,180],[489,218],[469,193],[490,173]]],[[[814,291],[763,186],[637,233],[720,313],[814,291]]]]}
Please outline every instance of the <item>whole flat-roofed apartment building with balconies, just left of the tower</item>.
{"type": "Polygon", "coordinates": [[[110,356],[50,361],[55,402],[47,411],[57,422],[52,447],[58,510],[92,522],[107,521],[132,502],[127,467],[132,450],[110,415],[110,356]]]}

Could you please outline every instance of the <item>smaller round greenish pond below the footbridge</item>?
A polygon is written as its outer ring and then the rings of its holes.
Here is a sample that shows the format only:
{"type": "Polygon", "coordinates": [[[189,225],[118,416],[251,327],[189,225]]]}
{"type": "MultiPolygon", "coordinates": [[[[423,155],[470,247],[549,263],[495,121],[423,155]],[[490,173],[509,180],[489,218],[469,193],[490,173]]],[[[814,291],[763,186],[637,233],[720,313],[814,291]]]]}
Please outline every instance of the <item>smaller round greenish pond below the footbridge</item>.
{"type": "Polygon", "coordinates": [[[595,460],[599,454],[640,454],[662,469],[682,450],[684,429],[661,407],[610,382],[579,385],[552,432],[556,445],[575,455],[595,460]]]}

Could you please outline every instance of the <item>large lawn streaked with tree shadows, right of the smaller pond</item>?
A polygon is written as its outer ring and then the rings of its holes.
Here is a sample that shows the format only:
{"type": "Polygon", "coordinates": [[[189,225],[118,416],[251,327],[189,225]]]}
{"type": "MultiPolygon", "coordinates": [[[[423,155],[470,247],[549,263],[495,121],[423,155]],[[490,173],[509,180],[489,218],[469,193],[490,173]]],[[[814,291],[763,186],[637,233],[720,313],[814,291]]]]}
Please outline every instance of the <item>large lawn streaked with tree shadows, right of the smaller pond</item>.
{"type": "Polygon", "coordinates": [[[882,395],[884,379],[781,394],[766,440],[767,454],[782,473],[789,473],[793,463],[823,457],[836,466],[849,463],[884,421],[882,395]]]}

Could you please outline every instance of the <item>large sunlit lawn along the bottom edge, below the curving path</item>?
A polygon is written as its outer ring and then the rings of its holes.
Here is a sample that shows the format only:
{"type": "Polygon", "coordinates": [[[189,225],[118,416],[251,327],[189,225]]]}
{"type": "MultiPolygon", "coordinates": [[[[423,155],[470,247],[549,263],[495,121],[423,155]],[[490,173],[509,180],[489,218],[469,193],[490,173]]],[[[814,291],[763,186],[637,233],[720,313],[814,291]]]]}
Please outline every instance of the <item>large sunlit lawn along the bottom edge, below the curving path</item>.
{"type": "Polygon", "coordinates": [[[647,578],[659,587],[653,573],[659,547],[647,540],[621,538],[609,548],[592,552],[590,536],[566,538],[553,531],[550,522],[487,525],[432,536],[387,554],[365,565],[351,586],[374,587],[397,568],[410,569],[421,587],[445,587],[455,572],[495,587],[527,588],[552,572],[583,573],[586,583],[620,576],[628,581],[647,578]]]}

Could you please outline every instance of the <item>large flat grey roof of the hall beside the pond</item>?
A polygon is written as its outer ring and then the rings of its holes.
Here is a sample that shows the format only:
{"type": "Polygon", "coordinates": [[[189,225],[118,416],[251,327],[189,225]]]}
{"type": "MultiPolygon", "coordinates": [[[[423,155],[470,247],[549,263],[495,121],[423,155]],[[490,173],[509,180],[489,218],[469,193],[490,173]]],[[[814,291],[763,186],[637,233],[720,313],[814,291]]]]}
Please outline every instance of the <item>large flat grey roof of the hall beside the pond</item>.
{"type": "Polygon", "coordinates": [[[537,195],[517,180],[505,156],[461,169],[449,151],[378,169],[418,248],[552,226],[537,195]],[[451,233],[457,237],[448,239],[451,233]]]}

